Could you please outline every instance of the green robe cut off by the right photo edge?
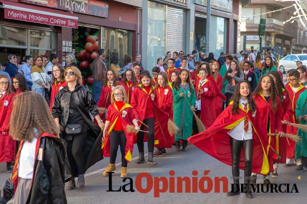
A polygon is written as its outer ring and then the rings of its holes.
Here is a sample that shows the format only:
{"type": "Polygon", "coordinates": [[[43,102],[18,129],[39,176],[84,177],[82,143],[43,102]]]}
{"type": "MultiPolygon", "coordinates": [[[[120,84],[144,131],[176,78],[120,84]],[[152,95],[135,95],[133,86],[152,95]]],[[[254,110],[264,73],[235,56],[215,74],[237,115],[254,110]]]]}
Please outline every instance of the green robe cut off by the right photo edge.
{"type": "MultiPolygon", "coordinates": [[[[307,114],[306,109],[307,90],[302,92],[297,99],[295,117],[304,116],[307,114]]],[[[298,119],[297,119],[298,120],[298,119]]],[[[307,121],[302,120],[300,124],[307,124],[307,121]]],[[[295,158],[301,159],[301,157],[307,157],[307,132],[297,129],[297,135],[301,137],[301,143],[295,143],[295,158]]]]}

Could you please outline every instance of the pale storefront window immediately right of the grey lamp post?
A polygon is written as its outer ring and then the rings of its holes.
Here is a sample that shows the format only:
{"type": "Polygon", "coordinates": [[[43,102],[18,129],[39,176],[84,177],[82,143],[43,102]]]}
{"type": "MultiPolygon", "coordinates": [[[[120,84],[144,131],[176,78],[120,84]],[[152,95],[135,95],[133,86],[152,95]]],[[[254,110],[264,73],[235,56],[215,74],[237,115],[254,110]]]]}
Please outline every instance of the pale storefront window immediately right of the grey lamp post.
{"type": "Polygon", "coordinates": [[[226,51],[226,37],[226,19],[211,16],[209,51],[214,53],[216,59],[220,56],[221,52],[226,51]]]}

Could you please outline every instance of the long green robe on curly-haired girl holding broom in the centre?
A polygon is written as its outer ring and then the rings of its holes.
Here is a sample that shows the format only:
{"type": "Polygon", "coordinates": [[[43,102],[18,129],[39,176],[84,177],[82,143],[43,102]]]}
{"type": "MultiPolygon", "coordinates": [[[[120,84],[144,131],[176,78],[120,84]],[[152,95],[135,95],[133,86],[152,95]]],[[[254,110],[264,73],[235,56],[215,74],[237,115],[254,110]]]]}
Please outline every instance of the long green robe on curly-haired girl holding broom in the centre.
{"type": "Polygon", "coordinates": [[[192,90],[188,87],[186,91],[180,87],[180,91],[177,88],[173,88],[173,119],[179,131],[175,134],[175,141],[187,140],[192,135],[192,121],[193,113],[190,106],[186,102],[184,97],[180,97],[180,92],[185,92],[185,98],[191,106],[196,105],[195,89],[192,90]]]}

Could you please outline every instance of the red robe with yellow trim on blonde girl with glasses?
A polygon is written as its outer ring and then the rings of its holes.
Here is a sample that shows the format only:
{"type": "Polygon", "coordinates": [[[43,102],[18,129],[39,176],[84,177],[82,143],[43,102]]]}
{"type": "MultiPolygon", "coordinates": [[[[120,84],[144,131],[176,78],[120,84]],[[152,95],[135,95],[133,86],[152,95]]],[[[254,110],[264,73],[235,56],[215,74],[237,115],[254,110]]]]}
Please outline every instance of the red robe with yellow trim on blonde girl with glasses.
{"type": "Polygon", "coordinates": [[[120,120],[122,122],[122,127],[124,129],[125,135],[126,135],[126,148],[125,148],[125,159],[130,162],[132,158],[132,151],[133,151],[133,137],[134,133],[128,133],[127,132],[127,125],[132,125],[133,119],[135,119],[134,112],[132,110],[132,107],[125,103],[125,105],[122,107],[122,109],[118,109],[116,104],[111,104],[108,107],[107,116],[111,119],[110,121],[110,127],[106,134],[106,139],[102,142],[101,149],[102,154],[104,157],[110,157],[110,133],[114,128],[114,125],[116,124],[117,120],[120,120]]]}

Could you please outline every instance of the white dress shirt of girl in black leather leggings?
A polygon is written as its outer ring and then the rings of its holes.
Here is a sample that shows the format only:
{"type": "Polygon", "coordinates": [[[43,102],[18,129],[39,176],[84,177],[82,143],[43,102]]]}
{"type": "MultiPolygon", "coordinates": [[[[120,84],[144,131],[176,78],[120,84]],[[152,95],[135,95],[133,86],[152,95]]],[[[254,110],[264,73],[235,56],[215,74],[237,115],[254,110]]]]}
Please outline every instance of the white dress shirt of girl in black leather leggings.
{"type": "MultiPolygon", "coordinates": [[[[247,100],[243,101],[240,98],[239,102],[243,108],[244,108],[243,103],[247,103],[247,108],[248,108],[247,100]]],[[[236,140],[253,139],[253,131],[252,131],[251,122],[248,120],[248,131],[247,132],[244,131],[244,119],[243,119],[237,126],[235,126],[233,129],[228,131],[227,134],[236,140]]]]}

